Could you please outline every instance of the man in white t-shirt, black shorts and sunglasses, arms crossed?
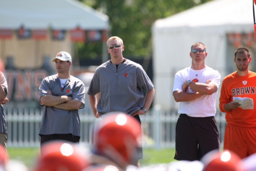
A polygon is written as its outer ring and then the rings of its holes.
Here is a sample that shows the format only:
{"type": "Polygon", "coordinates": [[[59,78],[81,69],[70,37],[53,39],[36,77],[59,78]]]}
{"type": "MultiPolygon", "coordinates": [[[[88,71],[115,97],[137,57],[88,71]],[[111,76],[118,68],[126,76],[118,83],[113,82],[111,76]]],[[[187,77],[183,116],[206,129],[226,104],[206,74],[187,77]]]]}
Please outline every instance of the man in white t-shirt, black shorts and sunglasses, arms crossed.
{"type": "Polygon", "coordinates": [[[215,120],[216,96],[221,75],[205,64],[206,46],[196,42],[189,53],[192,64],[175,74],[173,97],[180,102],[176,124],[176,160],[200,160],[219,149],[215,120]]]}

